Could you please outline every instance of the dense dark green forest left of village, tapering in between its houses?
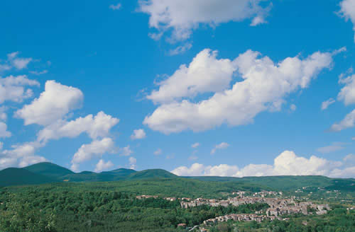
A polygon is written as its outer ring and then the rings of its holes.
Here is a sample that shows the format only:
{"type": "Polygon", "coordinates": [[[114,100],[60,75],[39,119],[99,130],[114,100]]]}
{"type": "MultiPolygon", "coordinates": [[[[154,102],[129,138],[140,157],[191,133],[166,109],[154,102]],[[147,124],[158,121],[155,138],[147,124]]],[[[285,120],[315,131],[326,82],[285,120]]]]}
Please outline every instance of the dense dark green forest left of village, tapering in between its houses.
{"type": "Polygon", "coordinates": [[[101,185],[41,185],[5,188],[0,231],[175,231],[232,213],[253,213],[267,204],[182,209],[180,202],[136,195],[101,185]]]}

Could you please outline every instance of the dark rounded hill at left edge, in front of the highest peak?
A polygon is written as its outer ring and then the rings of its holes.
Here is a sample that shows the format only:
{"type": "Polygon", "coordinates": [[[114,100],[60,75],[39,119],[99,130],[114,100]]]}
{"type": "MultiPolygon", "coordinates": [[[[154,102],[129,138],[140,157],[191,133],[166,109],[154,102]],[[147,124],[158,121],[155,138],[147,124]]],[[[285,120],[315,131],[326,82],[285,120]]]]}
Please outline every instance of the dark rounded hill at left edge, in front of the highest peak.
{"type": "Polygon", "coordinates": [[[23,168],[6,168],[0,170],[0,186],[10,185],[38,185],[55,182],[48,176],[32,173],[23,168]]]}

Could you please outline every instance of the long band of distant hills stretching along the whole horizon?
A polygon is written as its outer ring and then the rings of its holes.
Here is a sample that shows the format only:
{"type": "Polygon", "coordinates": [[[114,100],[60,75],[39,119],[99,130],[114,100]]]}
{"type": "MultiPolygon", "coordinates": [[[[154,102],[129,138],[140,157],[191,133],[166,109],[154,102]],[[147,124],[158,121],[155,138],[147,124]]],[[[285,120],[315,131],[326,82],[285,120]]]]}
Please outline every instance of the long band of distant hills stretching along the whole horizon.
{"type": "Polygon", "coordinates": [[[225,182],[226,186],[238,185],[239,187],[252,187],[260,189],[261,186],[272,190],[289,191],[300,187],[322,187],[326,190],[355,191],[354,179],[334,179],[320,175],[305,176],[265,176],[265,177],[179,177],[163,169],[148,169],[136,171],[119,168],[116,170],[94,173],[83,171],[74,173],[54,163],[37,163],[26,168],[6,168],[0,171],[0,187],[9,185],[37,185],[48,182],[107,182],[117,180],[160,180],[188,183],[188,179],[207,182],[225,182]]]}

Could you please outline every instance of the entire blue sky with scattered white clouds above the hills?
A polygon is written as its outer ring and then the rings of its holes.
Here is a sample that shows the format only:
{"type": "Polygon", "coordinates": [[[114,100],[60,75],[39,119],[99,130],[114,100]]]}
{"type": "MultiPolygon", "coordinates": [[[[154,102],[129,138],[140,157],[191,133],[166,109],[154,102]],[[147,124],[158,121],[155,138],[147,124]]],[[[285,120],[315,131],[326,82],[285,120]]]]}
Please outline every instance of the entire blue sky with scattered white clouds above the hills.
{"type": "Polygon", "coordinates": [[[355,178],[355,0],[2,1],[0,21],[0,170],[355,178]]]}

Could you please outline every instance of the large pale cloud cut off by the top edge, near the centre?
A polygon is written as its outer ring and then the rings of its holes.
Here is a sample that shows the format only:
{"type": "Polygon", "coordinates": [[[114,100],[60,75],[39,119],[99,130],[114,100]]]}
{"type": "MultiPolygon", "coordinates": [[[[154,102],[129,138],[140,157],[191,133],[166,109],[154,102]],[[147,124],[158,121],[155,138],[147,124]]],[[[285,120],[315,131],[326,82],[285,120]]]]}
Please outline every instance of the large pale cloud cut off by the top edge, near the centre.
{"type": "Polygon", "coordinates": [[[160,32],[173,29],[173,40],[186,40],[200,25],[215,27],[229,21],[252,18],[251,25],[265,23],[270,7],[261,0],[140,0],[139,11],[150,15],[149,25],[160,32]]]}

